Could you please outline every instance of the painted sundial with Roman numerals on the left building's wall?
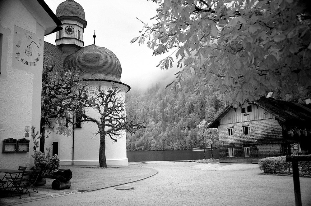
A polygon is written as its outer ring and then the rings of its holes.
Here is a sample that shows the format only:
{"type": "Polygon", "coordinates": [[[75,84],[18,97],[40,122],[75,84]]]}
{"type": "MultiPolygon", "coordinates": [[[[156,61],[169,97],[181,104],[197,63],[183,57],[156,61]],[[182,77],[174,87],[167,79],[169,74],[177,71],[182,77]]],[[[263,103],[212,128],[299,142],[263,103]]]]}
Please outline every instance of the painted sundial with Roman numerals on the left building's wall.
{"type": "Polygon", "coordinates": [[[41,58],[43,41],[26,30],[15,32],[18,42],[15,45],[15,59],[25,66],[36,66],[41,58]]]}

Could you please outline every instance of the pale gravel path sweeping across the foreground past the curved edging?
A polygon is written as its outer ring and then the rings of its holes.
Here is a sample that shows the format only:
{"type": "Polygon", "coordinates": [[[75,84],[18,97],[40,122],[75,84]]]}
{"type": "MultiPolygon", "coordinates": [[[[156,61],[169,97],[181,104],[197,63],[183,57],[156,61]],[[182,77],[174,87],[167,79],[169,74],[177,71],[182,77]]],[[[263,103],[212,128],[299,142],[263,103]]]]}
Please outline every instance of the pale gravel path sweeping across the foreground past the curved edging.
{"type": "MultiPolygon", "coordinates": [[[[132,190],[109,187],[20,205],[295,205],[293,178],[262,175],[257,164],[150,162],[141,166],[158,173],[122,185],[132,190]]],[[[300,186],[303,205],[311,205],[311,178],[300,178],[300,186]]]]}

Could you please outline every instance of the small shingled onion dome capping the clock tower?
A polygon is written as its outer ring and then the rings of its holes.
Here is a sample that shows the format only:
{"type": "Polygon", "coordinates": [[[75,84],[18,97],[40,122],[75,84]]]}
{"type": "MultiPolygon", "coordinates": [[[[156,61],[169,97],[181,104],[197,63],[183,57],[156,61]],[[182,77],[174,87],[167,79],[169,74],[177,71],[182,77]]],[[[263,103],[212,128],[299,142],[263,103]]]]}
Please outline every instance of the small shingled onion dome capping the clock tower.
{"type": "Polygon", "coordinates": [[[78,18],[83,24],[83,28],[86,28],[84,9],[79,3],[73,0],[67,0],[65,2],[60,3],[56,9],[55,14],[59,20],[66,18],[69,19],[78,18]]]}

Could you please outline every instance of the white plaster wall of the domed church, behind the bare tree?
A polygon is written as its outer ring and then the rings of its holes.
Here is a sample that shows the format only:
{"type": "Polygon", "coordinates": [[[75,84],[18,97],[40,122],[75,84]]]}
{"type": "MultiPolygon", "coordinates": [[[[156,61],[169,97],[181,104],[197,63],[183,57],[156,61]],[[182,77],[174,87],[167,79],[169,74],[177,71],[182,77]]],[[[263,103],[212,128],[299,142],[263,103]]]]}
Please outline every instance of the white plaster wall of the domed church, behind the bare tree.
{"type": "MultiPolygon", "coordinates": [[[[92,81],[90,84],[99,85],[103,87],[111,86],[109,82],[92,81]]],[[[124,89],[122,92],[125,98],[125,91],[127,87],[119,85],[124,89]]],[[[94,118],[100,119],[100,115],[95,110],[87,111],[88,114],[94,118]]],[[[81,128],[75,128],[72,137],[66,137],[56,133],[48,134],[49,138],[45,139],[45,146],[52,146],[53,141],[59,141],[59,158],[60,164],[70,164],[72,160],[72,145],[73,145],[73,164],[80,165],[99,165],[99,134],[98,126],[93,122],[82,122],[81,128]],[[95,136],[94,136],[95,135],[95,136]],[[72,144],[72,140],[74,143],[72,144]]],[[[117,142],[113,142],[111,138],[106,138],[106,160],[107,165],[128,165],[126,157],[126,133],[123,132],[122,138],[117,142]]]]}

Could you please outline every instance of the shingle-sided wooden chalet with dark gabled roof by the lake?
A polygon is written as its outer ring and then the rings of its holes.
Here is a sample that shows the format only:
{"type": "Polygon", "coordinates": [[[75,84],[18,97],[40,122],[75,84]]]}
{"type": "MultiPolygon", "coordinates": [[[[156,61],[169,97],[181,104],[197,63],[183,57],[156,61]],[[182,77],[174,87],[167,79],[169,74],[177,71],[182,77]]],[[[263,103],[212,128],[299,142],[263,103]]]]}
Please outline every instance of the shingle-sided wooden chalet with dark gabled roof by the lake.
{"type": "Polygon", "coordinates": [[[311,104],[261,97],[228,106],[208,126],[218,128],[220,162],[258,163],[271,156],[311,153],[311,104]]]}

